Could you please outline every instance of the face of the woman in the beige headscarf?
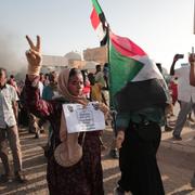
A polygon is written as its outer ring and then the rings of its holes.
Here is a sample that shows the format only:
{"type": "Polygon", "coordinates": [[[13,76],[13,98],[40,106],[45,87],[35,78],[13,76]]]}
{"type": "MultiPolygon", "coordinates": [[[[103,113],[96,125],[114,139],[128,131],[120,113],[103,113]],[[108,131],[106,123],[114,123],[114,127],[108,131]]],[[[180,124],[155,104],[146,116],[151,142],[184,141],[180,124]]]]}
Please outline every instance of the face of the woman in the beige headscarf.
{"type": "Polygon", "coordinates": [[[83,90],[83,78],[81,74],[72,76],[68,80],[68,91],[72,95],[80,96],[83,90]]]}

